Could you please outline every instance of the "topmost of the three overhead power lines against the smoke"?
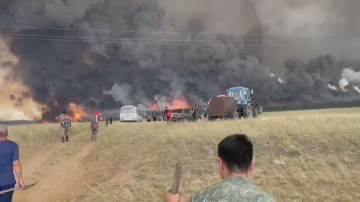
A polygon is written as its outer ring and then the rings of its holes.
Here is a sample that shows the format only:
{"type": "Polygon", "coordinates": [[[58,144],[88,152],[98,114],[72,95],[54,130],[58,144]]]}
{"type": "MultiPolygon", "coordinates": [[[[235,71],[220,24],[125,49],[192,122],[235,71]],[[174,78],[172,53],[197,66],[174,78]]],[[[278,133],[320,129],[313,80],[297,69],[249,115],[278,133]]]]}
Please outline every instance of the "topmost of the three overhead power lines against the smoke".
{"type": "Polygon", "coordinates": [[[231,36],[250,36],[250,35],[264,35],[264,36],[351,36],[352,34],[339,33],[210,33],[210,32],[163,32],[163,31],[129,31],[129,30],[99,30],[99,29],[84,29],[84,28],[61,28],[61,27],[36,27],[36,26],[15,26],[15,25],[0,25],[0,27],[9,28],[29,28],[29,29],[46,29],[46,30],[74,30],[74,31],[98,31],[98,32],[124,32],[124,33],[163,33],[163,34],[197,34],[197,35],[231,35],[231,36]]]}

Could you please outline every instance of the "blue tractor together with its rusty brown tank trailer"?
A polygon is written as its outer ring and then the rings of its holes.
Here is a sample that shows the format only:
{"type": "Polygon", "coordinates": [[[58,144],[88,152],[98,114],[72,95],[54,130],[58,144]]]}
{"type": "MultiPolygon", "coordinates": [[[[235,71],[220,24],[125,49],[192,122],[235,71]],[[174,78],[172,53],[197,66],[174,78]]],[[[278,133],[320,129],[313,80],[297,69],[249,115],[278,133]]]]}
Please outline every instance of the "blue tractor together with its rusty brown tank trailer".
{"type": "Polygon", "coordinates": [[[252,97],[253,90],[247,87],[231,87],[226,95],[219,95],[208,102],[209,120],[256,118],[262,114],[262,107],[258,106],[252,97]]]}

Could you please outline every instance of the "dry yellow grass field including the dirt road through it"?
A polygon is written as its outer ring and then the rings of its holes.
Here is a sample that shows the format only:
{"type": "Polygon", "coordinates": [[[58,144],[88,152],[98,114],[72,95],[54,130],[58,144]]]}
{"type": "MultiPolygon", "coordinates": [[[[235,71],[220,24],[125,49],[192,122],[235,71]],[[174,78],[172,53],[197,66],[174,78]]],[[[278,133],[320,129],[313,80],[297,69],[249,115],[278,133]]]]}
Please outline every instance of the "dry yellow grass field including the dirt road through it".
{"type": "Polygon", "coordinates": [[[360,111],[269,112],[261,118],[206,123],[101,125],[98,142],[88,124],[74,124],[69,143],[59,125],[10,126],[19,143],[26,202],[155,202],[183,165],[183,201],[220,181],[216,148],[244,133],[255,145],[252,180],[278,202],[360,201],[360,111]],[[273,163],[276,158],[285,165],[273,163]]]}

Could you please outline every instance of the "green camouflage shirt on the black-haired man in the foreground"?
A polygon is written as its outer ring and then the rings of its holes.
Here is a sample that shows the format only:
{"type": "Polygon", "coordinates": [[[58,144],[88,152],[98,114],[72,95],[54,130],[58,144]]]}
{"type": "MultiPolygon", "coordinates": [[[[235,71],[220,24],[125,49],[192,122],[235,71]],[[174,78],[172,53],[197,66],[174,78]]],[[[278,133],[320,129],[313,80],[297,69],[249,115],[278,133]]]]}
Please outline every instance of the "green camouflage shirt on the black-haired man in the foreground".
{"type": "Polygon", "coordinates": [[[276,202],[250,180],[230,176],[193,194],[189,202],[276,202]]]}

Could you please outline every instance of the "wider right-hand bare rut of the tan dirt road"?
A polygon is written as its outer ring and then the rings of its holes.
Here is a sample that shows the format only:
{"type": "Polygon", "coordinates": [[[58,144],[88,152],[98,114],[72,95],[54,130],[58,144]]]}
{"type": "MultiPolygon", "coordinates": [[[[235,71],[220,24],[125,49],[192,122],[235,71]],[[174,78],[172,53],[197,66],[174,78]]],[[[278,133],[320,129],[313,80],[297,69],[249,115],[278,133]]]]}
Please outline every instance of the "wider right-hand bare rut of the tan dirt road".
{"type": "Polygon", "coordinates": [[[74,155],[62,159],[51,166],[49,171],[40,179],[39,184],[31,189],[19,191],[14,201],[27,202],[60,202],[67,201],[71,196],[82,193],[84,184],[86,159],[93,148],[93,144],[85,143],[73,151],[74,155]]]}

